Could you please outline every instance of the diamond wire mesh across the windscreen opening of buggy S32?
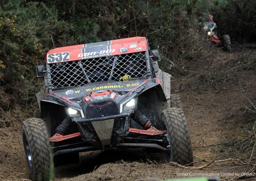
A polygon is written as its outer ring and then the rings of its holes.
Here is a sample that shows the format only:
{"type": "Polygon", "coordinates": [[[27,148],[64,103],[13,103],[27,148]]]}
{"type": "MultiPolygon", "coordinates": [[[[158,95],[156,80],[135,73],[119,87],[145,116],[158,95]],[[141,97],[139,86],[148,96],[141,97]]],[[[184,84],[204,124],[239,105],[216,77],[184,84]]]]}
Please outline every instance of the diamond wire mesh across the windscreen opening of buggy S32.
{"type": "Polygon", "coordinates": [[[97,57],[49,64],[53,88],[83,86],[102,81],[121,81],[120,77],[143,77],[147,74],[146,52],[97,57]]]}

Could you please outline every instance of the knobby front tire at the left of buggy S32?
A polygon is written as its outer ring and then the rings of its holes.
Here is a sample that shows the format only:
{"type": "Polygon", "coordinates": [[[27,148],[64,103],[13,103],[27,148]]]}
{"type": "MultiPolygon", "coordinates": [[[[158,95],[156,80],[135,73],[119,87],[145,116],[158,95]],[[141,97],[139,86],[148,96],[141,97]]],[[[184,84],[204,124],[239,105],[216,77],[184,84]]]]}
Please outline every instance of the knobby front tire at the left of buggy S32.
{"type": "Polygon", "coordinates": [[[54,179],[54,167],[47,128],[39,118],[30,118],[22,125],[23,145],[32,180],[54,179]]]}

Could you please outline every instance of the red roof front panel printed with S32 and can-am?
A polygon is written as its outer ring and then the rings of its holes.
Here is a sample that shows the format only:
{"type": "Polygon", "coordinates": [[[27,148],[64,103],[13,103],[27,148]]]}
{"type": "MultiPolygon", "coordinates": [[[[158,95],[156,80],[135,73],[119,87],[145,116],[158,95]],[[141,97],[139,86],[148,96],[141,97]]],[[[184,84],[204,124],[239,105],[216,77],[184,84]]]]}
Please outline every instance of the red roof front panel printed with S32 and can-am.
{"type": "Polygon", "coordinates": [[[145,37],[131,37],[105,42],[55,48],[47,53],[47,63],[67,62],[147,50],[145,37]]]}

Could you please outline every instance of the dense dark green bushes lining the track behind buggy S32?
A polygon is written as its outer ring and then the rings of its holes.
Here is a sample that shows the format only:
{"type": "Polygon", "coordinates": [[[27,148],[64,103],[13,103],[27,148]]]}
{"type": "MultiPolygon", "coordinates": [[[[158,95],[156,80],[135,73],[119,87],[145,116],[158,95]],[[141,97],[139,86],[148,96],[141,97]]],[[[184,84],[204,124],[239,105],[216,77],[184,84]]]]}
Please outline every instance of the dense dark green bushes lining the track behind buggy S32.
{"type": "Polygon", "coordinates": [[[45,62],[49,49],[145,36],[152,49],[160,49],[160,68],[170,72],[174,67],[173,71],[182,74],[179,65],[202,53],[198,20],[203,21],[208,12],[213,11],[222,32],[240,36],[241,26],[246,27],[243,34],[255,35],[255,11],[248,4],[245,0],[3,0],[0,102],[5,101],[0,103],[0,112],[35,102],[34,95],[42,85],[35,77],[35,65],[45,62]],[[234,10],[241,12],[232,19],[234,10]],[[238,27],[234,26],[236,19],[238,27]]]}

